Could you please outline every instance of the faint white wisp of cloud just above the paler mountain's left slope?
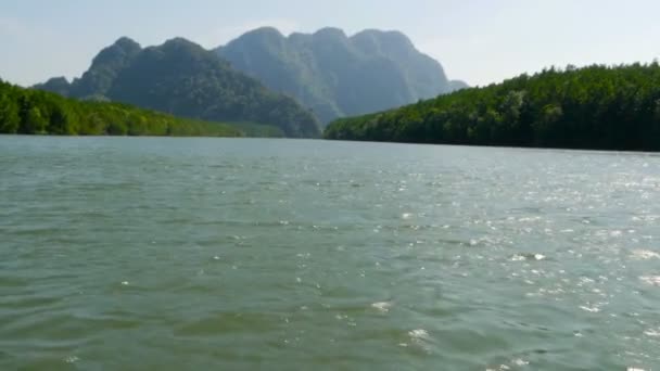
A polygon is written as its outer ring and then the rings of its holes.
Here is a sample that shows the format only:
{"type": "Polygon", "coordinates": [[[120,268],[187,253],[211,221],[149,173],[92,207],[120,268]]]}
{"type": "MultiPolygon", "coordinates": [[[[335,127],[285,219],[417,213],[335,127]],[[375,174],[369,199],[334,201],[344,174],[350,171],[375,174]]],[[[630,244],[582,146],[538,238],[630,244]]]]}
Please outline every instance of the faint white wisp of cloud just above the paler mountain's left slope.
{"type": "Polygon", "coordinates": [[[199,35],[194,37],[193,40],[201,43],[205,48],[217,48],[218,46],[226,44],[227,42],[236,39],[237,37],[243,35],[249,30],[259,27],[275,27],[284,35],[289,35],[291,33],[300,30],[300,25],[291,20],[255,20],[241,24],[218,27],[208,33],[205,33],[204,35],[199,35]]]}

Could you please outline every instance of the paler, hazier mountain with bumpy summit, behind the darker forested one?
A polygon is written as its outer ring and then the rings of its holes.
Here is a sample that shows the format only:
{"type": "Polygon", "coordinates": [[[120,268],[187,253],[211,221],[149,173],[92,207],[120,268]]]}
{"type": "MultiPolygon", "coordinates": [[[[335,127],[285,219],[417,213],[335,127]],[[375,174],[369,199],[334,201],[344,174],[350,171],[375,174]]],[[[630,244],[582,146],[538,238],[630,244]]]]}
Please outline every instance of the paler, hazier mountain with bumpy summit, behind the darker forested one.
{"type": "Polygon", "coordinates": [[[265,27],[215,51],[270,89],[296,98],[323,123],[465,88],[398,31],[368,29],[347,37],[323,28],[285,37],[265,27]]]}

